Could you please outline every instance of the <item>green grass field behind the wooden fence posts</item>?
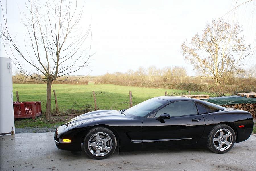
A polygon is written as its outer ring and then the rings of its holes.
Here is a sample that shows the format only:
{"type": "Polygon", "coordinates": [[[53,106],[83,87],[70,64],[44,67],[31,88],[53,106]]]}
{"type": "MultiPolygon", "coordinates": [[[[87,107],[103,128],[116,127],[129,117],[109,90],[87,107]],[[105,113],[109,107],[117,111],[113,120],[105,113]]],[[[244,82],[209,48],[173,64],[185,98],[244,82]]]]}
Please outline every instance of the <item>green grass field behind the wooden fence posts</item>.
{"type": "MultiPolygon", "coordinates": [[[[155,89],[118,86],[112,84],[89,84],[89,85],[70,85],[53,84],[56,90],[58,105],[61,113],[67,113],[68,109],[83,110],[85,106],[91,105],[94,109],[94,99],[92,91],[96,93],[98,109],[127,109],[129,108],[129,90],[132,91],[133,105],[156,96],[167,93],[181,93],[187,91],[176,89],[155,89]]],[[[13,84],[13,100],[16,101],[16,90],[19,93],[20,101],[41,101],[42,112],[46,107],[46,84],[13,84]]],[[[192,92],[191,92],[192,93],[192,92]]],[[[205,93],[205,92],[200,92],[205,93]]],[[[54,95],[52,92],[52,111],[55,108],[54,95]]]]}

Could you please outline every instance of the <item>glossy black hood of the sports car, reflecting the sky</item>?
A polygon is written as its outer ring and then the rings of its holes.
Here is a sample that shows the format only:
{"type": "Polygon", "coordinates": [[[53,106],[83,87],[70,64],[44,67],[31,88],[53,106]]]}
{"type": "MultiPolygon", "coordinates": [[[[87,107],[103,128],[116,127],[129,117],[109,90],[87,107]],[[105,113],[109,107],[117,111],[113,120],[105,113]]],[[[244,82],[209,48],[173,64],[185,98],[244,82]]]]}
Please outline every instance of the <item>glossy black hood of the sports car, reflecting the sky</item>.
{"type": "Polygon", "coordinates": [[[95,120],[113,120],[113,119],[133,119],[131,117],[125,116],[119,112],[119,110],[96,110],[93,112],[88,112],[81,114],[69,122],[66,123],[67,126],[73,125],[77,122],[90,122],[95,120]]]}

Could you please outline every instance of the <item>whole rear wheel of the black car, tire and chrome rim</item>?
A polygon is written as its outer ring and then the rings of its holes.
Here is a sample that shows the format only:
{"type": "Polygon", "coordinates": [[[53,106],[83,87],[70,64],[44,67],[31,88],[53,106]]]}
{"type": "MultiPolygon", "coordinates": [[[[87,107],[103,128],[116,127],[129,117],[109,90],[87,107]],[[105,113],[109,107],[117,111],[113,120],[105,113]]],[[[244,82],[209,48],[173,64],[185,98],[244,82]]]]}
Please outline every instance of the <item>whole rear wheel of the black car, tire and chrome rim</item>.
{"type": "Polygon", "coordinates": [[[214,153],[228,152],[235,144],[236,134],[234,130],[225,124],[214,126],[208,135],[207,147],[214,153]]]}

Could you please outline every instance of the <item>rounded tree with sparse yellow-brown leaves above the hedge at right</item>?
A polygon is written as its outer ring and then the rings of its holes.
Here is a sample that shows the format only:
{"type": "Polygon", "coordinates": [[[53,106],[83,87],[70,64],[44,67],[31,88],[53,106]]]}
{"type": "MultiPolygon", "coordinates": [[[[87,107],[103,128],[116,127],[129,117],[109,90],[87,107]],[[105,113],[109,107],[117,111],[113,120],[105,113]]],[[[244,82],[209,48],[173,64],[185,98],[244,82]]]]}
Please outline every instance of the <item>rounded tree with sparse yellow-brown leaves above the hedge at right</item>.
{"type": "Polygon", "coordinates": [[[222,19],[212,20],[201,35],[196,34],[188,45],[181,45],[185,59],[203,75],[214,79],[215,85],[233,74],[243,72],[241,60],[247,56],[250,45],[240,36],[241,26],[231,26],[222,19]]]}

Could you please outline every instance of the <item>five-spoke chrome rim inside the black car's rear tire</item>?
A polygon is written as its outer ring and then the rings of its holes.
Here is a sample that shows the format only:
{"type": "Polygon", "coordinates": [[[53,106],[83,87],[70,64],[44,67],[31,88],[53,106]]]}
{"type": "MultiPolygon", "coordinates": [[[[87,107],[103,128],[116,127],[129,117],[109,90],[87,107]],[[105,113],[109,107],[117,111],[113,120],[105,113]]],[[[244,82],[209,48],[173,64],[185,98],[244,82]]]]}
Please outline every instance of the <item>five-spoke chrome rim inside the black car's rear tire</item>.
{"type": "Polygon", "coordinates": [[[233,136],[230,130],[223,128],[218,130],[213,137],[213,144],[217,150],[224,151],[232,145],[233,136]]]}

